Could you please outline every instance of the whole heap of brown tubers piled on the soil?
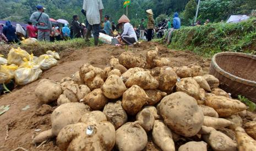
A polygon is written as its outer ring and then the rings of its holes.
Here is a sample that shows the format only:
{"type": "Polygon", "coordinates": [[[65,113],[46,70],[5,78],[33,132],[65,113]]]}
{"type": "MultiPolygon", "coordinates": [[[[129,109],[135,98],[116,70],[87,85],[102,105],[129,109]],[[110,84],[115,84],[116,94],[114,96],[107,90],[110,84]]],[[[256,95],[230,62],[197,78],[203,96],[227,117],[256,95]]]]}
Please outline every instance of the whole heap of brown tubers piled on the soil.
{"type": "Polygon", "coordinates": [[[161,150],[256,150],[256,121],[240,117],[245,104],[196,63],[171,67],[158,53],[125,52],[104,69],[86,63],[61,82],[41,80],[38,100],[58,107],[34,143],[56,137],[61,150],[143,150],[150,136],[161,150]]]}

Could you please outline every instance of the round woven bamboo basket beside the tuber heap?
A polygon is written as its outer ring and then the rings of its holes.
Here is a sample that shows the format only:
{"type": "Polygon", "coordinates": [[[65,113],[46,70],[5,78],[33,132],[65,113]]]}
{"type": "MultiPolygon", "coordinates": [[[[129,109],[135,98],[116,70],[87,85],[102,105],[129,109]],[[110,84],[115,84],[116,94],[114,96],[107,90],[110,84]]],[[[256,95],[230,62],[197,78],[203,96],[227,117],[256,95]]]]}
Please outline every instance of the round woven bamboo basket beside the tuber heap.
{"type": "Polygon", "coordinates": [[[225,52],[215,54],[210,74],[220,80],[220,88],[237,97],[242,95],[256,103],[256,56],[225,52]]]}

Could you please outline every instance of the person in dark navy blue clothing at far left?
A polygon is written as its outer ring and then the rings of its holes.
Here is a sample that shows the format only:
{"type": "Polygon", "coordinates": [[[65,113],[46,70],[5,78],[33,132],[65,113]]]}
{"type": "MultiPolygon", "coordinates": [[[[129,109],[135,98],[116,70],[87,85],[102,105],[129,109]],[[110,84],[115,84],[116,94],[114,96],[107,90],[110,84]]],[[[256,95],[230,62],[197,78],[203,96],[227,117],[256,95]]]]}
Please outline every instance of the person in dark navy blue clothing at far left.
{"type": "Polygon", "coordinates": [[[8,43],[18,42],[15,32],[15,27],[13,27],[9,20],[6,21],[6,26],[3,27],[3,34],[7,37],[8,43]]]}

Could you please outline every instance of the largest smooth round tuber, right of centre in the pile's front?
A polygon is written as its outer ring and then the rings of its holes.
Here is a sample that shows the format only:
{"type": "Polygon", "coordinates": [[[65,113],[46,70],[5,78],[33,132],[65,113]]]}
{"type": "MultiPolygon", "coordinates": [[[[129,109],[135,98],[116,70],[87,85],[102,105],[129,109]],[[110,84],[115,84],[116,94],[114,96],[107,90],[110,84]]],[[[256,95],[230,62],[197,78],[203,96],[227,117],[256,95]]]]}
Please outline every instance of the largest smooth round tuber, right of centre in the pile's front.
{"type": "Polygon", "coordinates": [[[164,97],[158,109],[166,125],[178,135],[194,136],[203,125],[203,111],[198,107],[197,101],[184,92],[164,97]]]}

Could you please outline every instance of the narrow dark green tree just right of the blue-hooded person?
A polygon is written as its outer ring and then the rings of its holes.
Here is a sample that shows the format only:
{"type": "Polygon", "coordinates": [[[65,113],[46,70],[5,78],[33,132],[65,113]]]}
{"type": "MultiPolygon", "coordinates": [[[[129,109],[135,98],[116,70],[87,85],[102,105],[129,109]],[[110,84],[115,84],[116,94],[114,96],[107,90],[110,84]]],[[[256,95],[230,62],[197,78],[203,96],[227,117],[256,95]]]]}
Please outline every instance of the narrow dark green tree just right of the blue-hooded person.
{"type": "Polygon", "coordinates": [[[193,20],[195,17],[195,11],[197,11],[197,3],[195,0],[190,0],[186,5],[184,10],[183,18],[185,24],[191,24],[190,20],[193,20]]]}

